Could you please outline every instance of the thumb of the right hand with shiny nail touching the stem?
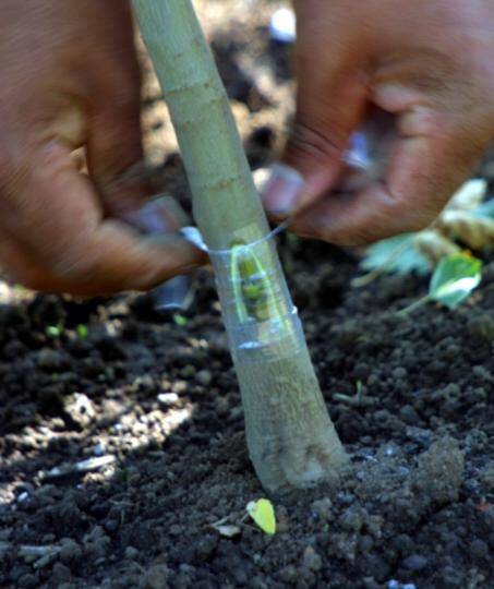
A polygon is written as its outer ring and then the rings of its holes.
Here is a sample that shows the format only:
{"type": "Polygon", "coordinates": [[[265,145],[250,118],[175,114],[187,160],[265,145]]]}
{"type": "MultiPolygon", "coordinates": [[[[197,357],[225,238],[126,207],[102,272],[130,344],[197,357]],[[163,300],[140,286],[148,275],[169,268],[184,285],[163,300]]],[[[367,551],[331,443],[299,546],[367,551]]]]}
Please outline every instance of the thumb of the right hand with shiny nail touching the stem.
{"type": "Polygon", "coordinates": [[[363,118],[363,73],[345,53],[323,57],[321,50],[312,41],[299,40],[294,123],[281,165],[274,167],[263,194],[268,214],[277,218],[314,204],[333,187],[350,135],[363,118]]]}

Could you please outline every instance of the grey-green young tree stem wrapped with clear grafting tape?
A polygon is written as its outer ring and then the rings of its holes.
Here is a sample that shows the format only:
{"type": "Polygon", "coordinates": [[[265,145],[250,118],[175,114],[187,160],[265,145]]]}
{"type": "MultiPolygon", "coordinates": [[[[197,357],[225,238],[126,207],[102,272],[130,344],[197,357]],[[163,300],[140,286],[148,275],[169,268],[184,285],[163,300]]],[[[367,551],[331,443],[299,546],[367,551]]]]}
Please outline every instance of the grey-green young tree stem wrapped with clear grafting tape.
{"type": "Polygon", "coordinates": [[[190,0],[133,0],[133,4],[170,110],[194,217],[205,241],[210,250],[245,243],[261,268],[261,279],[251,276],[257,279],[253,288],[244,281],[239,289],[236,280],[245,280],[236,266],[239,256],[212,256],[256,473],[268,492],[335,478],[346,462],[345,450],[291,312],[276,250],[263,241],[269,227],[192,4],[190,0]],[[249,249],[252,242],[257,242],[255,253],[249,249]],[[245,305],[239,292],[248,292],[248,286],[273,298],[274,304],[263,308],[272,310],[266,321],[245,317],[246,313],[240,317],[239,309],[245,305]]]}

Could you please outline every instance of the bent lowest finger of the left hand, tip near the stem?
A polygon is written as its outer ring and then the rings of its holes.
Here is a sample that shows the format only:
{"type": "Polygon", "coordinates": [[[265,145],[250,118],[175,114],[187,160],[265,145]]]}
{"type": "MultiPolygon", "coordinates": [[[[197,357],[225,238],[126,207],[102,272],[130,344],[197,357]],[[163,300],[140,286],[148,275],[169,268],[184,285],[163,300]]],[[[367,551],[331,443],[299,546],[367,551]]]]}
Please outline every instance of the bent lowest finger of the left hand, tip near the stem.
{"type": "Polygon", "coordinates": [[[12,175],[1,203],[3,231],[38,268],[23,274],[31,288],[74,294],[146,289],[203,261],[184,240],[142,237],[104,220],[92,183],[59,144],[45,146],[23,173],[12,175]]]}

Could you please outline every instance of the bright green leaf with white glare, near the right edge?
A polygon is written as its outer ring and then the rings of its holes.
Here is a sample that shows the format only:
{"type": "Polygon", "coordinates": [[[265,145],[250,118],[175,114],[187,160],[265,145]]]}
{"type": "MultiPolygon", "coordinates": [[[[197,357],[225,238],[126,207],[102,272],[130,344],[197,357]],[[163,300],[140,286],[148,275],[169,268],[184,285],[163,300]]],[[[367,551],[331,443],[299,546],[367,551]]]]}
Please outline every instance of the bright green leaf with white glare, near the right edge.
{"type": "Polygon", "coordinates": [[[436,267],[429,288],[429,299],[455,309],[482,279],[482,262],[467,254],[442,260],[436,267]]]}

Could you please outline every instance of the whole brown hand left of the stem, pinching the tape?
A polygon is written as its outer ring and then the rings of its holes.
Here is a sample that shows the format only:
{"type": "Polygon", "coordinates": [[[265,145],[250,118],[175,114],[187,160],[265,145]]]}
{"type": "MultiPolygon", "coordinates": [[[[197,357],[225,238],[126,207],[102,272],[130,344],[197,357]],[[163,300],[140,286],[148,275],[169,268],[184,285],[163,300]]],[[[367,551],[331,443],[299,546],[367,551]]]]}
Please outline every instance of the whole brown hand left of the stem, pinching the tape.
{"type": "Polygon", "coordinates": [[[147,187],[119,181],[143,157],[126,0],[3,0],[0,80],[0,266],[8,274],[38,290],[107,294],[201,264],[185,240],[133,228],[146,229],[138,211],[147,187]],[[88,176],[71,157],[80,146],[88,176]]]}

